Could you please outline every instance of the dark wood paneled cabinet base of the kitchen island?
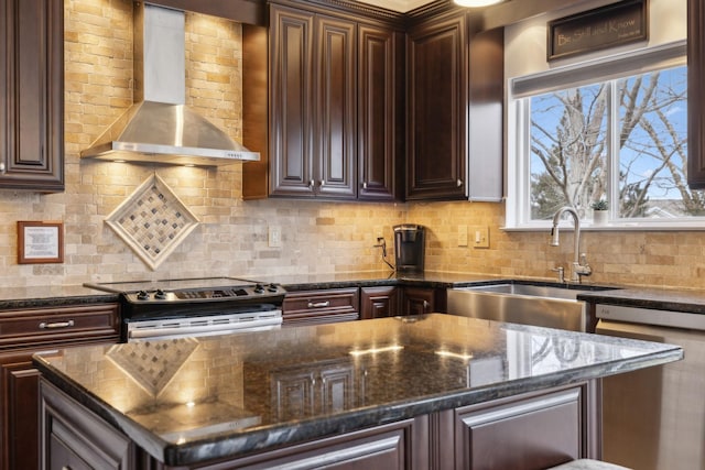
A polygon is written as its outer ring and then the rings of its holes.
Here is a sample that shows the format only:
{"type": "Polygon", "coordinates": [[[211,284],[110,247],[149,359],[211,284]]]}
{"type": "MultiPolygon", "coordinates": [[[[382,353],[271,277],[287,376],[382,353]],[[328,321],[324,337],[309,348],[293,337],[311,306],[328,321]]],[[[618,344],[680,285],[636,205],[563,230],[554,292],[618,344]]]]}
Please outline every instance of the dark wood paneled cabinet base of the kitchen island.
{"type": "MultiPolygon", "coordinates": [[[[178,468],[540,470],[599,458],[597,390],[595,382],[554,387],[178,468]]],[[[41,391],[45,468],[175,469],[43,379],[41,391]]]]}

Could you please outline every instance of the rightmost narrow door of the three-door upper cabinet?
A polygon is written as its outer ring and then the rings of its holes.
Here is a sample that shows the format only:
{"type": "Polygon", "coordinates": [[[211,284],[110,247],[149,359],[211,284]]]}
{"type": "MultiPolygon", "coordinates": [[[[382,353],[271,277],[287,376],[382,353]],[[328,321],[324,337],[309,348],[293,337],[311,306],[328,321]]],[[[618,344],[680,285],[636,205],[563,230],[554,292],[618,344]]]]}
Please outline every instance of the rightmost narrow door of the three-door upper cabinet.
{"type": "Polygon", "coordinates": [[[370,25],[358,29],[359,199],[402,197],[403,41],[397,32],[370,25]]]}

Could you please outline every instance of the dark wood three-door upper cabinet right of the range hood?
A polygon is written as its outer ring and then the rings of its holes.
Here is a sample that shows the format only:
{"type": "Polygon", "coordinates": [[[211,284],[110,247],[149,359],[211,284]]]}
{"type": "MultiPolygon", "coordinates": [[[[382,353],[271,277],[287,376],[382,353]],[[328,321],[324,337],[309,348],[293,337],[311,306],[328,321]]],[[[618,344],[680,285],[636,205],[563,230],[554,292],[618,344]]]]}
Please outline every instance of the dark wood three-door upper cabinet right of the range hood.
{"type": "MultiPolygon", "coordinates": [[[[401,199],[403,32],[349,11],[283,3],[269,6],[267,194],[401,199]]],[[[260,173],[245,165],[245,198],[265,193],[260,173]]]]}

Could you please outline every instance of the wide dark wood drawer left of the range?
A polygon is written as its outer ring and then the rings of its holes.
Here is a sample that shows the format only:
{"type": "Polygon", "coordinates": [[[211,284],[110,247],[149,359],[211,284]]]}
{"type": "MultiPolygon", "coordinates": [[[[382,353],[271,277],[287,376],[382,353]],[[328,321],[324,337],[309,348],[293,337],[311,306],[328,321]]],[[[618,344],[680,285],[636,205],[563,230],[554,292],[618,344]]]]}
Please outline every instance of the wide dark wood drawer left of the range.
{"type": "Polygon", "coordinates": [[[0,311],[0,348],[117,339],[118,304],[0,311]]]}

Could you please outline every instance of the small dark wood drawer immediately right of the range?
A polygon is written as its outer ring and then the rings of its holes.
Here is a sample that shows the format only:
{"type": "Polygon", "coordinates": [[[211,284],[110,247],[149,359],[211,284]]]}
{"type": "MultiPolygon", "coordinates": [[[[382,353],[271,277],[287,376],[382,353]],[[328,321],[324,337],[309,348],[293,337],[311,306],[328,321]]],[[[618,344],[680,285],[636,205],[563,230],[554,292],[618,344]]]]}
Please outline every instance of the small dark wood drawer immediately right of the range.
{"type": "Polygon", "coordinates": [[[292,292],[284,298],[284,324],[356,320],[359,303],[357,287],[292,292]]]}

